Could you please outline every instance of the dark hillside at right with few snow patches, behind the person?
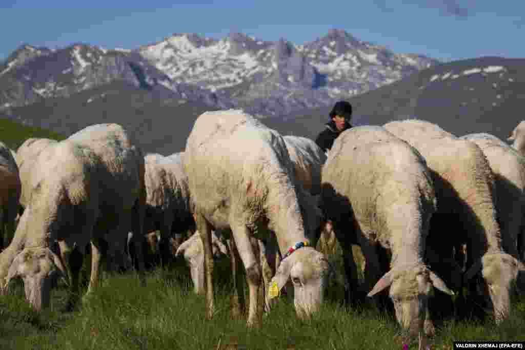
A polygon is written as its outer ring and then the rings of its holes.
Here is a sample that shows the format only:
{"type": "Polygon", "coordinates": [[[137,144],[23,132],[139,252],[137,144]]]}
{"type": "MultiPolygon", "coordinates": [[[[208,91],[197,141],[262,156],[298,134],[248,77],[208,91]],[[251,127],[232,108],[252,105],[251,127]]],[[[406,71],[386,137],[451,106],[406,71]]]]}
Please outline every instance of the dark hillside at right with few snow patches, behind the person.
{"type": "MultiPolygon", "coordinates": [[[[482,57],[430,67],[405,79],[355,96],[355,125],[382,125],[418,118],[458,136],[488,132],[505,140],[525,119],[525,59],[482,57]]],[[[286,133],[315,137],[330,107],[288,115],[286,133]]],[[[279,123],[270,118],[268,124],[279,123]]]]}

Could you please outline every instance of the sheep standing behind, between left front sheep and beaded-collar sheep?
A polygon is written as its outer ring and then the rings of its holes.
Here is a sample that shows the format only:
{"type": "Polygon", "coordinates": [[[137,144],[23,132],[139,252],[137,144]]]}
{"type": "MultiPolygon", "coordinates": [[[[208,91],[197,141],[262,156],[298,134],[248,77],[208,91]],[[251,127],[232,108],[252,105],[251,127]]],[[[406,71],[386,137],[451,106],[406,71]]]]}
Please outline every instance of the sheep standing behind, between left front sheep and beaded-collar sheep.
{"type": "Polygon", "coordinates": [[[182,243],[182,231],[194,230],[190,208],[187,176],[181,160],[182,154],[164,157],[159,154],[145,156],[146,219],[144,231],[160,230],[158,250],[166,262],[169,242],[175,253],[182,243]],[[175,237],[173,239],[172,230],[175,237]]]}

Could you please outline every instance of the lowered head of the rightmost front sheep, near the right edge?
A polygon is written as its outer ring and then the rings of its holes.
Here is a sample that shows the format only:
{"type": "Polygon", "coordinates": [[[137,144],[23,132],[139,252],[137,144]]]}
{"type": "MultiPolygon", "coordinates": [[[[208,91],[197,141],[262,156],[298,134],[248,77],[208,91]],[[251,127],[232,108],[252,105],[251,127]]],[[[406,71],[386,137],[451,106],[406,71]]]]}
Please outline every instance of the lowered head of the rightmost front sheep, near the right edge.
{"type": "Polygon", "coordinates": [[[509,315],[510,295],[514,282],[522,284],[523,263],[506,253],[487,253],[465,273],[465,283],[481,272],[478,292],[492,305],[494,319],[500,323],[509,315]]]}

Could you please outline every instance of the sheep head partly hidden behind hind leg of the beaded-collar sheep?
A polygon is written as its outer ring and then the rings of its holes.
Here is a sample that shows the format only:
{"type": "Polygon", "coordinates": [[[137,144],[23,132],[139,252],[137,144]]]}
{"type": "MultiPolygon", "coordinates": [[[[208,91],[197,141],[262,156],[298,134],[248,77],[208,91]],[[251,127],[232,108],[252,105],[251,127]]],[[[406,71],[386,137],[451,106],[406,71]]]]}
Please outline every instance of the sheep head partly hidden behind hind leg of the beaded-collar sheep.
{"type": "MultiPolygon", "coordinates": [[[[214,259],[219,259],[221,254],[227,256],[228,250],[223,242],[220,241],[220,233],[212,232],[212,252],[214,259]]],[[[202,239],[198,231],[185,240],[177,248],[175,257],[183,256],[190,267],[190,275],[193,281],[193,290],[196,294],[204,294],[204,252],[202,239]]]]}

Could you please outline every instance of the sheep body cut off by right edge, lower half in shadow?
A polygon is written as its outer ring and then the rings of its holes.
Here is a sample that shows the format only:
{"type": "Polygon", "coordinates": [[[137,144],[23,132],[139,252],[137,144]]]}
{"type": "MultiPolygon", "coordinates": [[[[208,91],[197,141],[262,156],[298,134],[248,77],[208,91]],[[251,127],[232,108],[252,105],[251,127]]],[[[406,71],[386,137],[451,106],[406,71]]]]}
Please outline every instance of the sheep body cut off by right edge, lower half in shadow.
{"type": "Polygon", "coordinates": [[[460,138],[476,143],[487,157],[496,181],[497,220],[502,248],[514,258],[522,259],[518,242],[525,239],[525,232],[522,231],[525,224],[525,157],[490,134],[469,134],[460,138]]]}

